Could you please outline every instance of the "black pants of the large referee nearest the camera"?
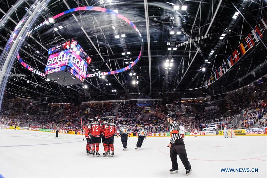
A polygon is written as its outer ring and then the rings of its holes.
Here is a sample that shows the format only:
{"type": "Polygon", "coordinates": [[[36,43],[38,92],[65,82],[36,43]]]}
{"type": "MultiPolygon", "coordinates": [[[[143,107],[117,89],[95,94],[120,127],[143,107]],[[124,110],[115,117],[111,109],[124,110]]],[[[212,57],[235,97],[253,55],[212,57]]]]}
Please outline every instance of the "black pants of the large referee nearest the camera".
{"type": "Polygon", "coordinates": [[[175,143],[171,145],[171,148],[170,148],[170,159],[172,162],[172,168],[175,170],[179,170],[178,163],[177,163],[177,155],[182,161],[185,170],[190,170],[191,165],[188,161],[185,146],[184,146],[184,140],[182,138],[177,139],[175,143]]]}

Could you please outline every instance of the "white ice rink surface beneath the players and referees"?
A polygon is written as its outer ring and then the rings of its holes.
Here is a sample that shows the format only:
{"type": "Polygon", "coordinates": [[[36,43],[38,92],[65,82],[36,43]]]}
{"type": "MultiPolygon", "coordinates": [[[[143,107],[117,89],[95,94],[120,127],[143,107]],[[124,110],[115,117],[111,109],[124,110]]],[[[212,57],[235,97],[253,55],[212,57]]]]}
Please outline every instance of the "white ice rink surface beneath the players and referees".
{"type": "Polygon", "coordinates": [[[81,135],[0,130],[0,174],[4,177],[266,177],[266,136],[185,137],[192,173],[187,176],[178,158],[179,173],[170,174],[168,137],[144,140],[135,151],[137,137],[114,139],[114,157],[86,155],[81,135]],[[258,168],[258,172],[221,172],[220,168],[258,168]]]}

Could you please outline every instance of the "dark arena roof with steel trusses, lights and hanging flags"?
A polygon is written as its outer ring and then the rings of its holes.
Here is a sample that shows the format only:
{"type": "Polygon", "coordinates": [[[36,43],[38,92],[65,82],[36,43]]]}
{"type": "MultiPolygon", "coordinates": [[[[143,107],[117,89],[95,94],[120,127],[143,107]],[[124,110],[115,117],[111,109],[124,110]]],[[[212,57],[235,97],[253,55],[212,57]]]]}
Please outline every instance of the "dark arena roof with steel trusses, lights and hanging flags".
{"type": "Polygon", "coordinates": [[[0,7],[1,98],[172,101],[266,80],[264,0],[2,0],[0,7]],[[40,75],[48,49],[72,39],[91,58],[86,74],[95,75],[67,86],[40,75]],[[120,72],[101,75],[109,71],[120,72]]]}

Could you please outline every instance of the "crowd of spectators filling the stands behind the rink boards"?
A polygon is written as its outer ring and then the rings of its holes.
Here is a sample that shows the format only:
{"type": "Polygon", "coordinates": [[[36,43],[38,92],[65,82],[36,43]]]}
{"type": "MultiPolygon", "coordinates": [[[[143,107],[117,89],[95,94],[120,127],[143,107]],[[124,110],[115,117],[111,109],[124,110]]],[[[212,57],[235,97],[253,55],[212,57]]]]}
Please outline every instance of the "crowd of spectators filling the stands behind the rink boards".
{"type": "MultiPolygon", "coordinates": [[[[170,110],[176,112],[178,122],[182,123],[187,131],[195,128],[200,130],[200,124],[217,122],[219,118],[228,117],[228,124],[233,124],[236,129],[256,128],[267,126],[267,84],[260,83],[254,88],[251,86],[240,91],[229,93],[223,98],[217,98],[213,103],[217,104],[214,109],[205,110],[205,103],[192,103],[190,109],[181,112],[177,103],[163,104],[156,102],[153,105],[154,111],[144,118],[144,107],[136,104],[120,104],[116,113],[113,113],[114,103],[99,104],[37,104],[31,107],[22,102],[4,99],[5,107],[1,111],[1,124],[29,127],[30,124],[38,124],[40,128],[55,129],[59,127],[64,130],[81,130],[80,118],[86,122],[94,117],[115,118],[115,124],[120,127],[126,123],[132,132],[140,129],[140,125],[148,132],[168,132],[166,115],[170,110]],[[12,102],[14,102],[12,104],[12,102]],[[21,104],[21,106],[20,106],[21,104]],[[12,107],[13,106],[13,107],[12,107]],[[14,107],[18,107],[14,109],[14,107]],[[28,107],[28,108],[27,108],[28,107]],[[21,109],[21,110],[20,110],[21,109]],[[251,109],[254,109],[252,111],[251,109]],[[236,122],[231,123],[231,119],[236,117],[236,122]],[[190,116],[190,117],[188,117],[190,116]],[[216,121],[217,119],[217,121],[216,121]]],[[[207,105],[207,106],[209,106],[207,105]]]]}

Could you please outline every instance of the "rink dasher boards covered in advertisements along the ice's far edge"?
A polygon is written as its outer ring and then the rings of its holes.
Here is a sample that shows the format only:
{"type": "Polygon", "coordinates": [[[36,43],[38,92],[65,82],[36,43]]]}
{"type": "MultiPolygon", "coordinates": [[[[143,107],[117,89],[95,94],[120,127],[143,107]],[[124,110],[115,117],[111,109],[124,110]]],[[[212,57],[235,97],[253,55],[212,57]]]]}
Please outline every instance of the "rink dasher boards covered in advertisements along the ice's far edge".
{"type": "MultiPolygon", "coordinates": [[[[0,125],[3,129],[15,129],[15,126],[7,126],[7,125],[0,125]]],[[[56,133],[54,129],[40,129],[40,128],[32,128],[32,127],[19,127],[17,126],[18,130],[31,130],[31,131],[39,131],[39,132],[51,132],[56,133]]],[[[234,130],[236,136],[264,136],[267,135],[267,127],[261,128],[254,128],[254,129],[236,129],[234,130]]],[[[72,134],[72,135],[82,135],[85,132],[81,131],[67,131],[67,130],[59,130],[60,134],[72,134]]],[[[195,136],[195,132],[186,132],[185,136],[195,136]]],[[[115,135],[116,136],[116,135],[115,135]]],[[[129,133],[130,137],[137,137],[137,133],[129,133]]],[[[216,130],[216,131],[200,131],[197,132],[197,136],[223,136],[223,130],[216,130]]],[[[162,133],[147,133],[147,137],[170,137],[169,132],[162,132],[162,133]]]]}

